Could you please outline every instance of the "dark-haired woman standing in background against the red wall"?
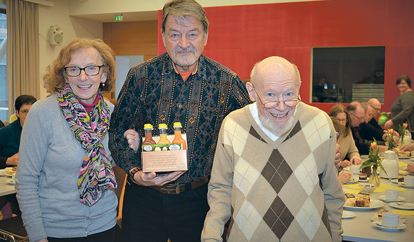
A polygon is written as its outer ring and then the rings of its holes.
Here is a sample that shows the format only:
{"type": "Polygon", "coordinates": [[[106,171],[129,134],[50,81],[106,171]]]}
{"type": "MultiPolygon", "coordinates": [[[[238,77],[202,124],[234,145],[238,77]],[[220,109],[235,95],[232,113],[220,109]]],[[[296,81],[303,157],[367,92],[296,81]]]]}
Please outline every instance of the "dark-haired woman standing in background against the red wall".
{"type": "MultiPolygon", "coordinates": [[[[411,80],[406,75],[401,75],[395,81],[400,90],[400,96],[391,105],[391,119],[386,121],[386,130],[393,128],[398,130],[398,125],[408,122],[408,127],[413,132],[414,125],[414,92],[411,89],[411,80]]],[[[413,133],[411,133],[413,134],[413,133]]],[[[412,137],[414,137],[412,135],[412,137]]]]}

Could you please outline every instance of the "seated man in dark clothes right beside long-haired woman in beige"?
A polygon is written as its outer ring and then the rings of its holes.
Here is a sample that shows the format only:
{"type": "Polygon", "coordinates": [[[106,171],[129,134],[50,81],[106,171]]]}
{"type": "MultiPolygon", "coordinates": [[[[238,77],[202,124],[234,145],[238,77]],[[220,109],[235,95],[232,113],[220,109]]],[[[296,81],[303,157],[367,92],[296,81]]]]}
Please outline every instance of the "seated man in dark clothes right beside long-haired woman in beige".
{"type": "MultiPolygon", "coordinates": [[[[351,114],[351,131],[359,154],[368,154],[369,144],[374,139],[377,141],[388,140],[386,132],[383,130],[378,130],[372,125],[364,122],[365,111],[359,101],[353,101],[352,103],[349,103],[348,107],[346,107],[346,110],[348,110],[349,114],[351,114]]],[[[397,135],[394,136],[394,141],[396,144],[398,143],[397,135]]],[[[387,146],[385,145],[378,146],[380,148],[380,152],[388,150],[387,146]]]]}

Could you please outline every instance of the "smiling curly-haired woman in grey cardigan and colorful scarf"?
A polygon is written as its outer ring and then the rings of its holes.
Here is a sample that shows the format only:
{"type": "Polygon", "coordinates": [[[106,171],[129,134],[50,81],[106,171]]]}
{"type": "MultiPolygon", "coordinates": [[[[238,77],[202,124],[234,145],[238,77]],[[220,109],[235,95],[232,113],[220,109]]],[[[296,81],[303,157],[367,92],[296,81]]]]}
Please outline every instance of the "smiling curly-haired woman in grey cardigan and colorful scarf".
{"type": "Polygon", "coordinates": [[[101,92],[115,79],[115,53],[100,39],[72,39],[46,69],[57,93],[30,110],[16,174],[30,241],[114,241],[113,105],[101,92]]]}

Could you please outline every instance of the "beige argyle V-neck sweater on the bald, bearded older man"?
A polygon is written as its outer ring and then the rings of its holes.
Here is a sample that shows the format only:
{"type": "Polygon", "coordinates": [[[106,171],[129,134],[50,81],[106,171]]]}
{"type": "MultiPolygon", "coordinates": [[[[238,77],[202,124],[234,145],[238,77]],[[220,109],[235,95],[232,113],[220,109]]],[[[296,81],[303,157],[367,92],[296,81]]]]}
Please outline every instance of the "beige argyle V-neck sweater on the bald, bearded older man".
{"type": "Polygon", "coordinates": [[[217,143],[202,241],[221,241],[229,218],[228,241],[341,241],[335,145],[331,119],[304,103],[276,141],[249,106],[230,113],[217,143]]]}

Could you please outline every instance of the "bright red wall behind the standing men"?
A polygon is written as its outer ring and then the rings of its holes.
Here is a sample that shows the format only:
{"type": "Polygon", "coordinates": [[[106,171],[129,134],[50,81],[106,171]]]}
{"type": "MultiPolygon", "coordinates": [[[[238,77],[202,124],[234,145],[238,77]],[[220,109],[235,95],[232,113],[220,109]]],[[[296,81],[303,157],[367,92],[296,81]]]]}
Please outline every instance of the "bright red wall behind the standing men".
{"type": "MultiPolygon", "coordinates": [[[[306,103],[310,102],[313,47],[386,46],[384,111],[399,95],[395,79],[408,74],[414,81],[413,0],[331,0],[205,10],[210,21],[206,56],[234,70],[242,80],[249,78],[257,61],[284,57],[299,68],[306,103]]],[[[159,28],[160,19],[161,10],[159,28]]],[[[158,53],[165,51],[159,34],[158,53]]],[[[312,103],[326,112],[334,104],[312,103]]]]}

